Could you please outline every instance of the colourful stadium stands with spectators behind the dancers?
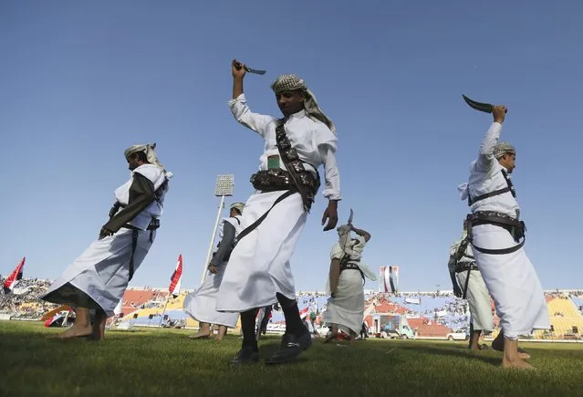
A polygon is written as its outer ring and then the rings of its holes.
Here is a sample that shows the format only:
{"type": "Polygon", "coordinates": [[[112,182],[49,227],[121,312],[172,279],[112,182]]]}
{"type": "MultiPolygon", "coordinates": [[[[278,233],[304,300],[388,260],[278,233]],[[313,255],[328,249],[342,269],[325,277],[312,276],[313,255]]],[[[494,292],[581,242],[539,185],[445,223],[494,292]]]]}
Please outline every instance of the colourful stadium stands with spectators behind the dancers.
{"type": "MultiPolygon", "coordinates": [[[[10,315],[11,319],[40,319],[44,313],[57,305],[44,302],[37,297],[50,286],[50,280],[23,278],[13,293],[0,295],[0,313],[10,315]]],[[[182,290],[177,298],[170,298],[165,316],[168,321],[182,321],[186,327],[196,328],[198,323],[182,309],[184,298],[189,290],[182,290]]],[[[122,301],[122,321],[130,320],[136,326],[155,327],[160,324],[161,314],[166,303],[168,290],[152,287],[129,287],[122,301]]],[[[444,292],[411,292],[383,294],[368,291],[365,315],[374,313],[400,314],[406,316],[420,337],[444,337],[453,329],[467,328],[469,315],[467,303],[444,292]]],[[[583,291],[547,291],[547,306],[552,329],[536,330],[535,339],[581,339],[583,331],[583,291]]],[[[298,292],[297,302],[301,310],[320,315],[326,309],[328,296],[322,292],[298,292]]],[[[493,306],[494,311],[494,306],[493,306]]],[[[162,321],[164,323],[166,320],[162,321]]],[[[274,310],[270,323],[284,323],[284,315],[274,310]]],[[[495,324],[498,319],[495,317],[495,324]]],[[[493,333],[493,337],[497,334],[493,333]]]]}

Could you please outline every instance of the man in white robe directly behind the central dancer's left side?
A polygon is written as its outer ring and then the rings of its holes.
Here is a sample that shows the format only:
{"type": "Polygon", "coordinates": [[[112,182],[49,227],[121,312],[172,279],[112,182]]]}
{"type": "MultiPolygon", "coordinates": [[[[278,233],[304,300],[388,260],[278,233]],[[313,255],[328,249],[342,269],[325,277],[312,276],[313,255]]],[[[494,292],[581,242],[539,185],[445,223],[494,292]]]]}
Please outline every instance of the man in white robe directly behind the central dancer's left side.
{"type": "Polygon", "coordinates": [[[216,311],[216,298],[237,235],[242,230],[241,214],[244,207],[243,203],[231,205],[229,217],[224,218],[219,229],[219,244],[214,250],[203,285],[184,299],[184,311],[199,322],[198,332],[191,336],[193,340],[210,338],[211,324],[219,327],[216,340],[223,340],[227,328],[233,329],[236,326],[239,315],[216,311]]]}

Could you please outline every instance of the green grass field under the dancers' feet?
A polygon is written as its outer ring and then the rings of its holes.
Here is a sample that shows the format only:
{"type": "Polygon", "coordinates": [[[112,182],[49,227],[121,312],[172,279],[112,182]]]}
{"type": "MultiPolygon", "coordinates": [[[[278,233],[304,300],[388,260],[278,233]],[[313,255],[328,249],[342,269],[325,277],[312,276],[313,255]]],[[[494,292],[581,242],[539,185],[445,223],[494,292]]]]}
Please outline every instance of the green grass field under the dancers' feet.
{"type": "MultiPolygon", "coordinates": [[[[2,396],[566,396],[583,395],[583,344],[525,343],[537,371],[502,370],[501,354],[465,342],[316,343],[293,363],[232,368],[241,340],[188,330],[110,331],[107,340],[46,340],[59,329],[0,321],[2,396]]],[[[260,342],[262,358],[278,338],[260,342]]]]}

